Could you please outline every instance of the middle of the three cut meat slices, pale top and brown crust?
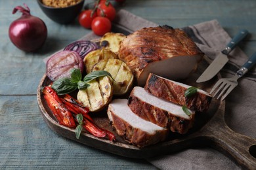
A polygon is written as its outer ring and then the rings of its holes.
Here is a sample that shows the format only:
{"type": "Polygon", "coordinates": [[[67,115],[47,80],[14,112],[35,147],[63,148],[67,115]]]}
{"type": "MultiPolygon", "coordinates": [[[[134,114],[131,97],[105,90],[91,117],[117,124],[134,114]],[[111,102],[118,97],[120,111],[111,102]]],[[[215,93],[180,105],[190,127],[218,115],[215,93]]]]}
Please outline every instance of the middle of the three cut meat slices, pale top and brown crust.
{"type": "Polygon", "coordinates": [[[194,111],[188,109],[188,115],[180,105],[160,99],[139,86],[133,88],[128,105],[140,118],[173,132],[184,134],[194,124],[194,111]]]}

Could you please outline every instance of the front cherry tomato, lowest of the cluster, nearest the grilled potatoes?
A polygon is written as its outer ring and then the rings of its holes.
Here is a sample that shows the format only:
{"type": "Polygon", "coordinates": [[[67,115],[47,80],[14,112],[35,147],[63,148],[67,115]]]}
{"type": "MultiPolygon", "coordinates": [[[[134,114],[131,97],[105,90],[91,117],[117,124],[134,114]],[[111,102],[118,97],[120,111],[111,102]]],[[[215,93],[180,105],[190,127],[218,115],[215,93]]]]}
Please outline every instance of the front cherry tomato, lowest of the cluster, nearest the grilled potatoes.
{"type": "Polygon", "coordinates": [[[108,33],[111,31],[111,22],[106,17],[97,16],[95,19],[93,19],[91,28],[93,29],[93,32],[96,35],[102,36],[105,33],[108,33]]]}

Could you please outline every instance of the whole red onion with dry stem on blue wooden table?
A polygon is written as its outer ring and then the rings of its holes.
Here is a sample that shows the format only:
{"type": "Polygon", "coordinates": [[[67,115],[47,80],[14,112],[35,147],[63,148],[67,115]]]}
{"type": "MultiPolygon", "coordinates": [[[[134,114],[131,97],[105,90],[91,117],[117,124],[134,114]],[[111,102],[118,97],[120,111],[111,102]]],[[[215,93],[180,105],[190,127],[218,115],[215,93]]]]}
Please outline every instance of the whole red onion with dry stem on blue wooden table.
{"type": "Polygon", "coordinates": [[[11,23],[9,37],[20,50],[33,52],[43,46],[47,38],[47,27],[43,20],[30,14],[30,9],[26,4],[24,7],[26,9],[21,6],[13,9],[12,14],[19,10],[22,12],[22,16],[11,23]]]}

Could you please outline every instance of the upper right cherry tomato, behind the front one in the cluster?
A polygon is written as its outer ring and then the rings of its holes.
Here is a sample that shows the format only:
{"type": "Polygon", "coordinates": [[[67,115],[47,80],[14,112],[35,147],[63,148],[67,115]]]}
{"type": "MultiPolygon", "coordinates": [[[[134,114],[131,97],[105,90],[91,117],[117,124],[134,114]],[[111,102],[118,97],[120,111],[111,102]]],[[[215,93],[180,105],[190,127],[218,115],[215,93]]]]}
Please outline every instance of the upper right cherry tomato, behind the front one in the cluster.
{"type": "Polygon", "coordinates": [[[106,18],[113,21],[116,17],[116,9],[112,6],[111,3],[108,3],[108,6],[105,3],[99,3],[97,9],[98,16],[106,16],[106,18]]]}

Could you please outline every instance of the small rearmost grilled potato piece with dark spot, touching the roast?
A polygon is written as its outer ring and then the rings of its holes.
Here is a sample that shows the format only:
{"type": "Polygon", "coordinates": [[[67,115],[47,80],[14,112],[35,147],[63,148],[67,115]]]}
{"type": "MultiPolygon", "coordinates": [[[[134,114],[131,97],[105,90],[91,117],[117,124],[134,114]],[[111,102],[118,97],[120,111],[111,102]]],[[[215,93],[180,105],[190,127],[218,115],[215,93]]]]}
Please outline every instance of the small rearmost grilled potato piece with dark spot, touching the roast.
{"type": "Polygon", "coordinates": [[[112,52],[119,51],[120,43],[126,36],[122,33],[106,33],[100,39],[100,45],[112,50],[112,52]]]}

